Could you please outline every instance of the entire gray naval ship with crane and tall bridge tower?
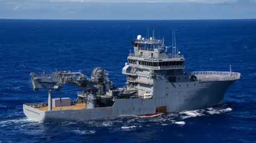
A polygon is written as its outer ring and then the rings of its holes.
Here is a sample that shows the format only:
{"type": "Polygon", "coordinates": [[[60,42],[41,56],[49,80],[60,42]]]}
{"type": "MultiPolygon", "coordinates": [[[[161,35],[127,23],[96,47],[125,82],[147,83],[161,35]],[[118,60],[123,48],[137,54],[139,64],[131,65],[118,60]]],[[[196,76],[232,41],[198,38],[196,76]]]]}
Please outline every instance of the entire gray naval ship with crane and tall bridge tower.
{"type": "Polygon", "coordinates": [[[50,122],[196,110],[218,105],[241,76],[231,72],[231,66],[227,72],[183,72],[185,58],[176,44],[166,47],[154,32],[151,38],[138,35],[132,45],[133,52],[122,69],[126,74],[123,88],[114,86],[102,68],[94,68],[90,78],[81,72],[32,72],[29,81],[34,90],[47,89],[49,98],[48,102],[23,104],[23,112],[29,119],[50,122]],[[67,83],[82,89],[77,99],[52,98],[52,92],[60,92],[67,83]]]}

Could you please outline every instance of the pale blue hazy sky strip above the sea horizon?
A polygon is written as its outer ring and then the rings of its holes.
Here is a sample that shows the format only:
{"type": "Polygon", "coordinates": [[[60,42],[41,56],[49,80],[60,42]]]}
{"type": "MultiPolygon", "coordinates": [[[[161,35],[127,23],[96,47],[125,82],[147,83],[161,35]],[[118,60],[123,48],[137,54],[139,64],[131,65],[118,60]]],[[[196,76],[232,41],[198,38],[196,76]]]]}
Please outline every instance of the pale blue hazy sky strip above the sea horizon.
{"type": "Polygon", "coordinates": [[[256,0],[0,0],[0,19],[256,19],[256,0]]]}

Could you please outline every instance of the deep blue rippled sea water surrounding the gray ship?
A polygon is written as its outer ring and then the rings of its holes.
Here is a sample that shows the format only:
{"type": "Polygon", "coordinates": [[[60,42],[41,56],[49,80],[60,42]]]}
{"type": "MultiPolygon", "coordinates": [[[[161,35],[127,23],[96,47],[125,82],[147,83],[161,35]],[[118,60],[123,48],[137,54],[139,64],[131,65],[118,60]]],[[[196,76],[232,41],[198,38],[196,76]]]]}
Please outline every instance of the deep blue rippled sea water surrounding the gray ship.
{"type": "MultiPolygon", "coordinates": [[[[0,20],[0,142],[256,142],[255,57],[256,20],[0,20]],[[30,72],[82,70],[90,77],[101,66],[123,86],[131,41],[147,36],[148,27],[167,45],[176,30],[186,71],[229,71],[231,64],[241,72],[225,96],[232,105],[79,122],[36,122],[23,114],[23,103],[47,101],[46,90],[30,88],[30,72]]],[[[63,87],[62,97],[76,99],[81,91],[63,87]]]]}

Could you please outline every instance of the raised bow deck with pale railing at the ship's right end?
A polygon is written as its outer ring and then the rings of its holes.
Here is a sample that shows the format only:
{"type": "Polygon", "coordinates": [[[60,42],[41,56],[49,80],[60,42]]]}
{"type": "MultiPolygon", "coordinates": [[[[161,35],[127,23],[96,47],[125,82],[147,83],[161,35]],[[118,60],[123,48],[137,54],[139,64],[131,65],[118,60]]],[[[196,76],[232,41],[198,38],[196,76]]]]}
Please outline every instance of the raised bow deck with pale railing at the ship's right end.
{"type": "Polygon", "coordinates": [[[195,71],[191,74],[195,75],[198,81],[229,81],[241,77],[239,72],[195,71]]]}

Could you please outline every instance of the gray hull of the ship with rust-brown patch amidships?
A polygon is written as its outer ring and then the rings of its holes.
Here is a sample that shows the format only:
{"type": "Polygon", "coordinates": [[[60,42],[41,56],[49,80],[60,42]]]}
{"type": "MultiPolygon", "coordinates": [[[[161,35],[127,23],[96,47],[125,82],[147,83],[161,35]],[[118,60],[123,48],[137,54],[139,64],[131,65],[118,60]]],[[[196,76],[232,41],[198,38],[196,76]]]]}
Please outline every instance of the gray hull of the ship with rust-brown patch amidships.
{"type": "MultiPolygon", "coordinates": [[[[197,86],[195,85],[195,87],[190,86],[189,88],[183,89],[176,87],[176,90],[166,91],[162,93],[165,94],[162,98],[116,99],[114,105],[111,107],[41,111],[24,104],[23,112],[29,119],[52,122],[91,120],[118,117],[119,115],[143,116],[196,110],[219,104],[223,100],[227,89],[234,81],[196,82],[197,86]]],[[[186,85],[187,83],[183,84],[186,85]]]]}

